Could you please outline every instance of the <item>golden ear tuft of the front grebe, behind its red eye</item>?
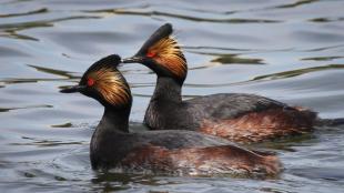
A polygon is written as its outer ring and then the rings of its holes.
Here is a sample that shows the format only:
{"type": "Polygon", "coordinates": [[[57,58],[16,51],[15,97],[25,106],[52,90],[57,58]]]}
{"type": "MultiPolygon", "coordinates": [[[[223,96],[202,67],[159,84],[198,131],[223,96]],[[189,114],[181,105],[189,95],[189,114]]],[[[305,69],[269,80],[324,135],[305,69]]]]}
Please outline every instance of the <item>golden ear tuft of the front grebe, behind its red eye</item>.
{"type": "Polygon", "coordinates": [[[130,89],[120,74],[111,67],[102,67],[90,72],[88,80],[93,80],[92,88],[111,104],[125,104],[131,99],[130,89]]]}

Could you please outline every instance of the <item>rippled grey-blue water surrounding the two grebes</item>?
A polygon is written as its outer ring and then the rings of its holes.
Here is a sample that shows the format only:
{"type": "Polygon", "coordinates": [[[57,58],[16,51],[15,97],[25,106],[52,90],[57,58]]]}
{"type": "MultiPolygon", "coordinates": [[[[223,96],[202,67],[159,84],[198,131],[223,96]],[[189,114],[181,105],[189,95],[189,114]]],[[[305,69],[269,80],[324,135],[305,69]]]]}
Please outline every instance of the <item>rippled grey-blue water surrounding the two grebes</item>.
{"type": "MultiPolygon", "coordinates": [[[[102,108],[59,88],[101,57],[130,57],[173,23],[190,72],[185,98],[247,92],[344,116],[344,1],[3,0],[0,3],[0,192],[344,192],[344,126],[261,144],[284,163],[271,180],[105,174],[90,169],[102,108]]],[[[155,77],[121,68],[131,129],[155,77]]]]}

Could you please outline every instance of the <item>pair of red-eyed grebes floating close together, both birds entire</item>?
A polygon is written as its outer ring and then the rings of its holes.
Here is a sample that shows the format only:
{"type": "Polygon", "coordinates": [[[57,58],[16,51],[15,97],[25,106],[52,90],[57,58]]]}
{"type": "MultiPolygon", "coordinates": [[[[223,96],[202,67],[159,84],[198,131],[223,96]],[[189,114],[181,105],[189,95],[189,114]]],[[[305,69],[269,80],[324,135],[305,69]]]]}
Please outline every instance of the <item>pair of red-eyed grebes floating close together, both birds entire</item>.
{"type": "Polygon", "coordinates": [[[181,175],[277,174],[281,163],[275,155],[249,151],[229,140],[250,143],[300,134],[322,120],[310,110],[253,94],[182,101],[188,65],[172,32],[171,24],[162,26],[134,57],[105,57],[89,68],[78,85],[61,90],[80,92],[104,106],[90,144],[92,167],[181,175]],[[132,95],[117,69],[121,62],[142,63],[156,73],[144,123],[160,131],[129,132],[132,95]]]}

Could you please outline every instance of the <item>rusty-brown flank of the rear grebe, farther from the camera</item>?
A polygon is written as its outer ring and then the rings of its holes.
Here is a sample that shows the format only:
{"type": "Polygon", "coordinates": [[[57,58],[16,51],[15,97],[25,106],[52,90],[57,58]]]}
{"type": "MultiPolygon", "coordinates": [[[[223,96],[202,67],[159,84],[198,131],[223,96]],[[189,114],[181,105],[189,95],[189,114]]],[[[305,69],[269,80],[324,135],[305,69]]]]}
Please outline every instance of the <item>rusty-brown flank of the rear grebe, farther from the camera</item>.
{"type": "Polygon", "coordinates": [[[295,108],[252,112],[230,120],[204,120],[200,132],[235,142],[252,143],[313,130],[316,113],[295,108]]]}

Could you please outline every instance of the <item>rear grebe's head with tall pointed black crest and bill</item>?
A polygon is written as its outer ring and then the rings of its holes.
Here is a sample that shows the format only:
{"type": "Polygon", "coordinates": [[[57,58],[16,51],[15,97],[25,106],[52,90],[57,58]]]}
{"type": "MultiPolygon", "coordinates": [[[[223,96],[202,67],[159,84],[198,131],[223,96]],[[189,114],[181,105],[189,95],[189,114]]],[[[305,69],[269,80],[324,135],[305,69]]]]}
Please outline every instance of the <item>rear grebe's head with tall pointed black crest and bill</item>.
{"type": "Polygon", "coordinates": [[[158,77],[170,77],[183,84],[188,73],[186,60],[178,41],[171,37],[172,32],[172,24],[163,24],[143,43],[136,54],[124,59],[123,63],[142,63],[158,77]]]}

